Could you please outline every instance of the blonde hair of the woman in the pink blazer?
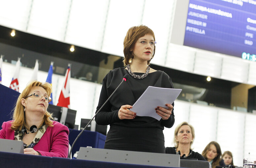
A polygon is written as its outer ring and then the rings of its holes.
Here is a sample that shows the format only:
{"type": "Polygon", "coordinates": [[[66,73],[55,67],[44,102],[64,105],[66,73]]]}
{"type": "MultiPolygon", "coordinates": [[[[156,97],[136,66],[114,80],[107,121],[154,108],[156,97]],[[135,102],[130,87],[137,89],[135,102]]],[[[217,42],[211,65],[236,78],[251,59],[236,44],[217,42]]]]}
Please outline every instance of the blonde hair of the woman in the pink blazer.
{"type": "MultiPolygon", "coordinates": [[[[27,97],[29,92],[31,91],[32,87],[34,87],[34,86],[43,87],[48,95],[51,95],[51,93],[52,93],[52,86],[51,86],[51,84],[49,84],[47,82],[42,83],[39,81],[31,81],[30,83],[28,83],[27,86],[25,87],[25,89],[20,93],[17,103],[16,103],[16,106],[14,108],[13,122],[12,122],[12,126],[11,126],[12,130],[18,129],[20,131],[22,126],[26,126],[25,113],[24,113],[25,107],[21,104],[21,99],[27,97]]],[[[46,111],[46,113],[44,115],[44,123],[50,127],[53,127],[52,119],[53,119],[52,114],[49,113],[48,111],[46,111]]]]}

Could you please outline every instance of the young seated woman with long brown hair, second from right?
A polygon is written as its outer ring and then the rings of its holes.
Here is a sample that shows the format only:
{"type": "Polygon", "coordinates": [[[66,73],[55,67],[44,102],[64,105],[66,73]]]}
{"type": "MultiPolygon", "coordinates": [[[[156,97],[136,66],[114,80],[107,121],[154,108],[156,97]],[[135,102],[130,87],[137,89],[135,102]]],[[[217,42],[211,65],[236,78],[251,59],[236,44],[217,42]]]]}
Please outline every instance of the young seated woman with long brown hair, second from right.
{"type": "Polygon", "coordinates": [[[215,142],[211,141],[203,150],[202,156],[211,164],[212,168],[216,166],[226,166],[224,160],[220,158],[221,156],[221,149],[220,145],[215,142]]]}

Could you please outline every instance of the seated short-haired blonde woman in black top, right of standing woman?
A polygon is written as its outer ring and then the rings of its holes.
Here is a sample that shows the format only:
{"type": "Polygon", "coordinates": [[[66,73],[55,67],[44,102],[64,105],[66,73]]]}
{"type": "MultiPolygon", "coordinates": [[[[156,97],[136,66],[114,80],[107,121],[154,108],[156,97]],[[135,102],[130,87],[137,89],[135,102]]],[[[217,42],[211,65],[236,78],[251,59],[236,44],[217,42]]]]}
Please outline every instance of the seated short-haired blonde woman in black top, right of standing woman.
{"type": "Polygon", "coordinates": [[[173,142],[175,147],[166,147],[165,153],[178,154],[183,158],[196,158],[205,161],[205,158],[201,154],[191,150],[194,138],[194,128],[187,122],[180,123],[174,130],[173,142]]]}

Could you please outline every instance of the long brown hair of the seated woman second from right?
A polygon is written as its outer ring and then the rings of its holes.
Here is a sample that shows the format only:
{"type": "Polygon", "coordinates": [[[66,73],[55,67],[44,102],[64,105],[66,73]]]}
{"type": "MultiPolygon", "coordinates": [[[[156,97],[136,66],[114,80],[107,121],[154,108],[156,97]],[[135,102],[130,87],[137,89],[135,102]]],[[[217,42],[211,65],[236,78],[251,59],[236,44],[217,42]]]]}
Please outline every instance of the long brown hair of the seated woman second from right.
{"type": "Polygon", "coordinates": [[[214,145],[217,150],[217,156],[213,159],[213,162],[212,162],[212,168],[215,168],[216,166],[220,165],[220,161],[221,161],[221,158],[220,158],[221,149],[220,149],[220,145],[217,142],[211,141],[210,143],[208,143],[208,145],[204,148],[202,152],[202,156],[207,160],[206,154],[209,151],[211,145],[214,145]]]}

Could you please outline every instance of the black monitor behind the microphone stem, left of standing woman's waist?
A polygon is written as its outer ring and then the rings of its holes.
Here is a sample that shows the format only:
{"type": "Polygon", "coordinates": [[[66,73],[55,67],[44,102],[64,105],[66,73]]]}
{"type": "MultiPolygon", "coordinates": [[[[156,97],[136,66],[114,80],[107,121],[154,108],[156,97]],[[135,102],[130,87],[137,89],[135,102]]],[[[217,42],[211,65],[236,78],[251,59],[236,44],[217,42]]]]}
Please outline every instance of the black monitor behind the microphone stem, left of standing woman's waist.
{"type": "MultiPolygon", "coordinates": [[[[80,130],[84,129],[90,120],[91,119],[81,118],[80,130]]],[[[95,120],[92,120],[91,124],[89,124],[85,130],[96,131],[96,132],[102,133],[103,135],[107,134],[107,126],[98,125],[98,124],[96,124],[95,120]]]]}

